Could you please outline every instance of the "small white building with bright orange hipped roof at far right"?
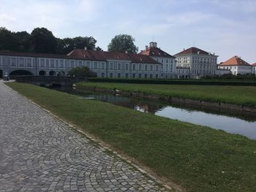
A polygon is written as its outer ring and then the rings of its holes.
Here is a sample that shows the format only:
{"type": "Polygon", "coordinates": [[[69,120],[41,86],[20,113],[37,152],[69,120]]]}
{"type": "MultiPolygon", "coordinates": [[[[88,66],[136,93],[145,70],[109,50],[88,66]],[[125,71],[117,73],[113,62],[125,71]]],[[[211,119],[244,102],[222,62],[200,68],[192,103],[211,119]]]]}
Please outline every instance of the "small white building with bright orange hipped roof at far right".
{"type": "Polygon", "coordinates": [[[233,75],[237,74],[251,74],[252,66],[238,56],[219,64],[219,69],[228,69],[233,75]]]}

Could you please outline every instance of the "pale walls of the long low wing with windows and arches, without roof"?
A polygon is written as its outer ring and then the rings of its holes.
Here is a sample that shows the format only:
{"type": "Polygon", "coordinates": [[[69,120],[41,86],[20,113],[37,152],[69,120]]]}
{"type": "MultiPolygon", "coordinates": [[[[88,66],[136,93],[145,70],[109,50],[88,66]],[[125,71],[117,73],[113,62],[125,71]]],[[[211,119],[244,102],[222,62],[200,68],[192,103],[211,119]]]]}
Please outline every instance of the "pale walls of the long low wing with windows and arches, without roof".
{"type": "Polygon", "coordinates": [[[10,74],[16,70],[26,70],[34,75],[67,75],[77,66],[87,66],[97,77],[120,78],[160,78],[162,64],[137,64],[131,61],[86,61],[64,58],[32,58],[0,55],[0,70],[10,74]]]}

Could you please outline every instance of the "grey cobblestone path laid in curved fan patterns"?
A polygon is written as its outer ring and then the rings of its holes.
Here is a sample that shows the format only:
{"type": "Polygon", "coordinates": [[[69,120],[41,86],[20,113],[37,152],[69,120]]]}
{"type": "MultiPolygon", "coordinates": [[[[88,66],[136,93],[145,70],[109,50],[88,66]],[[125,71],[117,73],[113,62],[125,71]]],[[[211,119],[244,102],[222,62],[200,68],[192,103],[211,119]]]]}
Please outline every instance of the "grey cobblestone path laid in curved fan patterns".
{"type": "Polygon", "coordinates": [[[161,190],[1,81],[0,191],[161,190]]]}

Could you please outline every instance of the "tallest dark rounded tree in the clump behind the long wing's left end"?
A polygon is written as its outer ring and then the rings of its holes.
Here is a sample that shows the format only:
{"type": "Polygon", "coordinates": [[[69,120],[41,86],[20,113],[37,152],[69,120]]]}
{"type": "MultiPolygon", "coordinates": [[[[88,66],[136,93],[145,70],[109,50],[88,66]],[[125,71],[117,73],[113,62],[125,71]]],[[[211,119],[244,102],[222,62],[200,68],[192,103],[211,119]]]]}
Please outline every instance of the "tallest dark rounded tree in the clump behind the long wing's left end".
{"type": "Polygon", "coordinates": [[[36,53],[55,53],[56,37],[47,28],[34,28],[31,32],[32,51],[36,53]]]}

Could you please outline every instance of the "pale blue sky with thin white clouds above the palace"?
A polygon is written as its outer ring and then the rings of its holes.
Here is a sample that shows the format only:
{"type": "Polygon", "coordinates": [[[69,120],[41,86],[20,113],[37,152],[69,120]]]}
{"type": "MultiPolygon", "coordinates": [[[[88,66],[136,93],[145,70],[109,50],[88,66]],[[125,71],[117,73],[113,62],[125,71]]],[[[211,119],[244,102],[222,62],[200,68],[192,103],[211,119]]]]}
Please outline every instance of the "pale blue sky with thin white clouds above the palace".
{"type": "Polygon", "coordinates": [[[129,34],[139,50],[154,40],[170,55],[195,46],[218,62],[234,55],[256,62],[256,0],[0,0],[0,26],[94,37],[103,50],[129,34]]]}

